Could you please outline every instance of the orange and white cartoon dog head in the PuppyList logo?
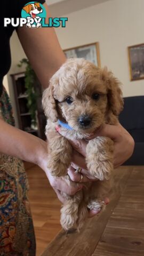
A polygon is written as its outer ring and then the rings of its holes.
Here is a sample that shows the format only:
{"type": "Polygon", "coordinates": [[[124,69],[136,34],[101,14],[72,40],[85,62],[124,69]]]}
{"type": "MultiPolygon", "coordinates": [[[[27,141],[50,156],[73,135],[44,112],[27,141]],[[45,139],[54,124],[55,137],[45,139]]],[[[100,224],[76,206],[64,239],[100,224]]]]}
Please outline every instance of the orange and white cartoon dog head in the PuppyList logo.
{"type": "Polygon", "coordinates": [[[32,18],[36,18],[36,15],[38,13],[43,12],[43,9],[41,8],[40,4],[36,2],[34,4],[27,4],[26,6],[23,7],[23,10],[29,13],[32,18]]]}

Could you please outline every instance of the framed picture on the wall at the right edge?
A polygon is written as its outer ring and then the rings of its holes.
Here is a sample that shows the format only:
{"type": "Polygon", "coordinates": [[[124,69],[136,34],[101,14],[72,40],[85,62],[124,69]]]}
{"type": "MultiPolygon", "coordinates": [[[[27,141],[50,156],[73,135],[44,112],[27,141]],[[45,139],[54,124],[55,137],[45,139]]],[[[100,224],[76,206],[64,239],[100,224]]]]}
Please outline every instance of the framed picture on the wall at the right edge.
{"type": "Polygon", "coordinates": [[[128,47],[131,81],[144,79],[144,43],[128,47]]]}

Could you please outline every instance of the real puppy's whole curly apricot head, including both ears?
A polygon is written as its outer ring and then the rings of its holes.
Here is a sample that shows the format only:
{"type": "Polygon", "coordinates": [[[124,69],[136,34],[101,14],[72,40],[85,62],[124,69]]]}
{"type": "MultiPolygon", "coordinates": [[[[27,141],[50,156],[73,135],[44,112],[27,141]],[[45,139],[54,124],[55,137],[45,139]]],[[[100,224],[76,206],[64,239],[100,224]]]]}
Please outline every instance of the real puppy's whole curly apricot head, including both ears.
{"type": "MultiPolygon", "coordinates": [[[[113,95],[113,98],[115,96],[113,95]]],[[[116,78],[107,70],[95,67],[84,59],[67,60],[51,78],[50,88],[43,97],[45,110],[45,103],[50,104],[48,98],[51,98],[48,117],[53,116],[53,121],[57,118],[64,119],[74,130],[84,133],[91,133],[107,122],[108,115],[112,114],[111,105],[116,105],[113,109],[115,115],[119,114],[117,112],[122,108],[121,90],[116,78]],[[113,86],[116,87],[112,88],[113,86]],[[110,103],[110,89],[112,94],[118,91],[117,103],[114,102],[115,99],[110,103]],[[57,107],[54,106],[55,102],[57,107]]]]}

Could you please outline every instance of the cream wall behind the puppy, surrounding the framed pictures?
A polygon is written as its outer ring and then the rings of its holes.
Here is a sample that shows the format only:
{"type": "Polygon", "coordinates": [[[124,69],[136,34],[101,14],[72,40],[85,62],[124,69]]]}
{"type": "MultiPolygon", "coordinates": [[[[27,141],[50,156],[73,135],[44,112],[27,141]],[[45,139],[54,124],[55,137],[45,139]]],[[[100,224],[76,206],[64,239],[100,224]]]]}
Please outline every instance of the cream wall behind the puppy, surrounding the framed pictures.
{"type": "MultiPolygon", "coordinates": [[[[144,95],[144,80],[130,82],[127,58],[127,46],[144,43],[143,10],[144,0],[111,0],[67,14],[67,27],[56,29],[62,49],[99,42],[101,66],[108,66],[123,83],[124,97],[144,95]]],[[[17,64],[25,57],[16,33],[11,38],[11,53],[9,74],[21,71],[17,64]]],[[[15,109],[9,75],[7,80],[15,109]]]]}

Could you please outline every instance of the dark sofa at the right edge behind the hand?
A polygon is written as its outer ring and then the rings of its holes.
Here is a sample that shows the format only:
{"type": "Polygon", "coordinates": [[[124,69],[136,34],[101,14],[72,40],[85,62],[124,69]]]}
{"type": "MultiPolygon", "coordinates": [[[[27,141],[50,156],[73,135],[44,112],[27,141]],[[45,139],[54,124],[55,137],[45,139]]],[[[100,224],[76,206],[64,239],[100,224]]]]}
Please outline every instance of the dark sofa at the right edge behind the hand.
{"type": "Polygon", "coordinates": [[[119,122],[135,141],[134,153],[124,165],[144,165],[144,96],[124,98],[124,110],[119,115],[119,122]]]}

